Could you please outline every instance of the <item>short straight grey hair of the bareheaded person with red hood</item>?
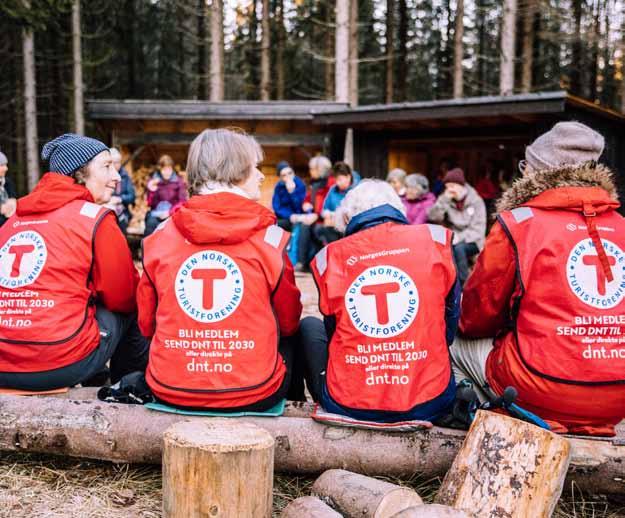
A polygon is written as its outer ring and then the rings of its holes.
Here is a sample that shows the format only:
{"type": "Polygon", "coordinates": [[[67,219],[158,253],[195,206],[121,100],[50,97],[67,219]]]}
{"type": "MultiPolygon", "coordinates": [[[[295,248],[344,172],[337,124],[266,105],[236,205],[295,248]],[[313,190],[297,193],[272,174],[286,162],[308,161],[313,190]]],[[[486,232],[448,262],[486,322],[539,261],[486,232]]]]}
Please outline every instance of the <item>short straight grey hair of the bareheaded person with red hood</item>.
{"type": "Polygon", "coordinates": [[[189,148],[189,194],[198,194],[208,182],[229,187],[244,182],[262,159],[260,144],[243,131],[206,129],[195,137],[189,148]]]}

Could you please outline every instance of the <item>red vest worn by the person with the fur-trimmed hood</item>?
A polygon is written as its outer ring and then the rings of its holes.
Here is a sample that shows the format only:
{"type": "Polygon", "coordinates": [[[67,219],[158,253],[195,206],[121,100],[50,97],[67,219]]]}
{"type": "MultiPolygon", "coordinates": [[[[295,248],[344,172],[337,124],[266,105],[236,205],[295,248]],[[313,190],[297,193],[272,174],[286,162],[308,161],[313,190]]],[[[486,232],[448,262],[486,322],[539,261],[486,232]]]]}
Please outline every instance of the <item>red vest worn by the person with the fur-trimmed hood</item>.
{"type": "Polygon", "coordinates": [[[512,317],[528,370],[570,384],[625,382],[623,217],[594,217],[611,282],[582,214],[519,207],[499,221],[516,255],[520,295],[512,317]]]}

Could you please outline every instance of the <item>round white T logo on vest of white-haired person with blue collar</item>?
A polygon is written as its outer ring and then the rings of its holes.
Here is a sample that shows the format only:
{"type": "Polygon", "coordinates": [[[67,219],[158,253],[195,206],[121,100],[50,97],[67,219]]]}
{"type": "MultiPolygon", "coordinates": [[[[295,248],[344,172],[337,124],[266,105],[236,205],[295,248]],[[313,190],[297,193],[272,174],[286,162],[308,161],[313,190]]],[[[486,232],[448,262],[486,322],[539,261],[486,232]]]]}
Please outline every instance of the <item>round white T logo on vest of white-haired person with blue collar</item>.
{"type": "Polygon", "coordinates": [[[345,294],[345,307],[354,327],[364,335],[396,336],[417,316],[419,292],[399,268],[373,266],[352,282],[345,294]]]}

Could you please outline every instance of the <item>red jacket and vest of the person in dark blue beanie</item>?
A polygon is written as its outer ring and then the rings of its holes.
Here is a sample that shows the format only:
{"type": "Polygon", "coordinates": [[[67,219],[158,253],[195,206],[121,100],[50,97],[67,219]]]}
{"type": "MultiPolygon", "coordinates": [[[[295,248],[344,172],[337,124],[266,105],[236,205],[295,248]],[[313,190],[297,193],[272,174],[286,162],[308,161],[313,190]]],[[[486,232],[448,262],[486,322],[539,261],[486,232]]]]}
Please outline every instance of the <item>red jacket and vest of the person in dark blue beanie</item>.
{"type": "Polygon", "coordinates": [[[33,193],[18,201],[16,215],[0,229],[0,242],[0,371],[47,371],[88,356],[100,341],[92,303],[103,298],[100,293],[112,293],[108,301],[101,300],[118,303],[112,310],[134,307],[138,277],[115,216],[94,204],[71,178],[44,176],[33,193]],[[101,232],[109,221],[105,247],[101,232]],[[111,246],[118,235],[122,242],[115,250],[111,246]],[[134,275],[117,285],[123,268],[106,278],[100,264],[123,266],[123,248],[134,275]],[[118,256],[110,258],[102,250],[118,256]]]}

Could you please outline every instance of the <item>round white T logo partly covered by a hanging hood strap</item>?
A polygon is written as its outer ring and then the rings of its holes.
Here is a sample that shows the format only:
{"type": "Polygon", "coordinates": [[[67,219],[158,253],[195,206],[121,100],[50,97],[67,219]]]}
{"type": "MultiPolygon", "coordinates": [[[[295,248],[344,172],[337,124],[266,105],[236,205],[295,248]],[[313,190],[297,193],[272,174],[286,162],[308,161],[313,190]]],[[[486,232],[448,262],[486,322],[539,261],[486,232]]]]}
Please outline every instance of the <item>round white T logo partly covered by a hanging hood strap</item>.
{"type": "Polygon", "coordinates": [[[617,245],[602,239],[614,280],[608,281],[592,239],[577,243],[566,262],[566,278],[571,291],[585,304],[610,309],[625,297],[625,253],[617,245]]]}

